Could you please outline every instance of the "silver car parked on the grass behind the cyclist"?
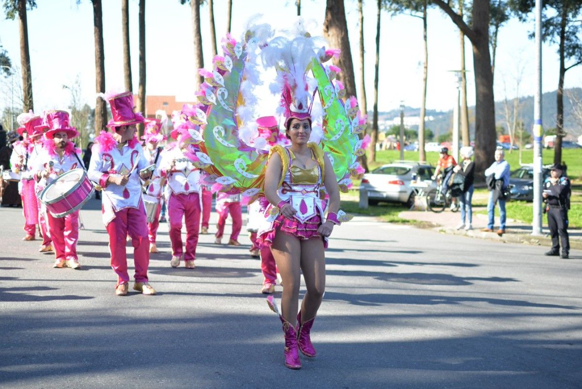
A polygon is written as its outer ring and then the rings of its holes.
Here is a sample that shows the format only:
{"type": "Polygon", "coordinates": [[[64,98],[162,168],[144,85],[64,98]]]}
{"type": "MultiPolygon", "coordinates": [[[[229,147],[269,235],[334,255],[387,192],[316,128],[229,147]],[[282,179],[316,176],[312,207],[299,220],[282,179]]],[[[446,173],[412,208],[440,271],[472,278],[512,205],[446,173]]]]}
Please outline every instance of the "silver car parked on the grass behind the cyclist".
{"type": "MultiPolygon", "coordinates": [[[[368,192],[368,204],[376,205],[379,201],[403,203],[411,207],[414,204],[414,192],[410,181],[414,178],[431,181],[433,168],[428,164],[414,161],[394,161],[366,173],[362,177],[361,187],[368,192]]],[[[431,181],[430,187],[437,188],[431,181]]]]}

